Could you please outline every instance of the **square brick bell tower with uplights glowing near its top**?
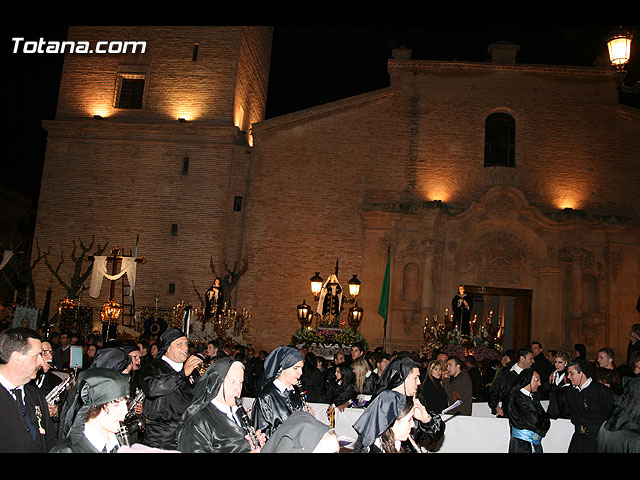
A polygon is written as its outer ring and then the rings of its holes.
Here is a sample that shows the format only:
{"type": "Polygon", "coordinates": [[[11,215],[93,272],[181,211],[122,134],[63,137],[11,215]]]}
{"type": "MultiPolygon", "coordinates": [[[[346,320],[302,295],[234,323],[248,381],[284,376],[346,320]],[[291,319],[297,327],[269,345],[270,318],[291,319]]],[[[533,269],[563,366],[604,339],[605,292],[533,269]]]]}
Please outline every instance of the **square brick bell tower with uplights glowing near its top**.
{"type": "MultiPolygon", "coordinates": [[[[146,41],[144,54],[67,54],[56,119],[46,122],[47,154],[35,239],[51,249],[69,279],[73,241],[118,246],[128,254],[139,236],[137,305],[185,301],[240,259],[250,162],[248,125],[264,118],[270,27],[72,27],[69,39],[146,41]],[[198,44],[194,60],[193,47],[198,44]],[[146,75],[140,109],[114,107],[121,72],[146,75]],[[94,118],[100,115],[101,118],[94,118]],[[184,118],[186,123],[179,123],[184,118]],[[176,234],[172,234],[176,225],[176,234]],[[170,284],[175,291],[170,293],[170,284]]],[[[93,252],[90,252],[93,253],[93,252]]],[[[85,262],[83,269],[90,265],[85,262]]],[[[35,271],[40,299],[64,291],[43,262],[35,271]]],[[[89,287],[89,280],[85,282],[89,287]]],[[[109,295],[105,280],[98,299],[109,295]]],[[[117,300],[121,299],[120,285],[117,300]]]]}

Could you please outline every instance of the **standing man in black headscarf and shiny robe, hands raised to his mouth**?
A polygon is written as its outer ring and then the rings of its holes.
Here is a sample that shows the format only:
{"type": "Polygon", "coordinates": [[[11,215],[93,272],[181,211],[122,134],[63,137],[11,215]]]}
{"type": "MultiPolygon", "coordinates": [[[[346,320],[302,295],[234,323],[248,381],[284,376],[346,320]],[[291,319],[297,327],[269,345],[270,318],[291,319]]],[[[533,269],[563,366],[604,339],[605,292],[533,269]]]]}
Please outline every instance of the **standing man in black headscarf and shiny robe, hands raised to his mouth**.
{"type": "Polygon", "coordinates": [[[143,443],[162,450],[177,449],[177,433],[182,414],[193,401],[196,367],[202,359],[189,355],[187,336],[177,328],[160,337],[160,351],[140,372],[145,398],[143,443]]]}

